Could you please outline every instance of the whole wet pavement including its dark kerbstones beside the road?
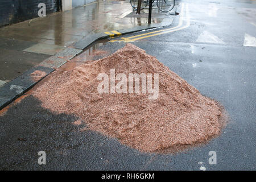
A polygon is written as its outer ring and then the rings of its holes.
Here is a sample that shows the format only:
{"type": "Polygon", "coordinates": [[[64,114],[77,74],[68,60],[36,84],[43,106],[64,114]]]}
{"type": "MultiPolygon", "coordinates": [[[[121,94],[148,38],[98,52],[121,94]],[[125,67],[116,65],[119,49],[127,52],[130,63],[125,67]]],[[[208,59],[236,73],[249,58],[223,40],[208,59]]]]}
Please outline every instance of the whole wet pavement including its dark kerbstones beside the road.
{"type": "Polygon", "coordinates": [[[48,75],[100,39],[170,26],[176,7],[153,10],[148,24],[148,9],[136,15],[128,0],[97,1],[0,28],[0,109],[36,84],[33,71],[48,75]]]}

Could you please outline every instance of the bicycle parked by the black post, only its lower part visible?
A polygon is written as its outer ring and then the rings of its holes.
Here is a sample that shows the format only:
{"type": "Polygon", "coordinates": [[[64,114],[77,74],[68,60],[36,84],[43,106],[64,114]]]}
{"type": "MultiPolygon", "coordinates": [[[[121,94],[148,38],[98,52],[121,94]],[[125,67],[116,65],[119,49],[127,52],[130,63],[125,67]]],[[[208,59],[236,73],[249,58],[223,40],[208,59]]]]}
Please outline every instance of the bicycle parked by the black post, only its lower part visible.
{"type": "MultiPolygon", "coordinates": [[[[155,0],[152,1],[152,4],[155,2],[155,0]]],[[[138,0],[130,0],[131,7],[133,7],[134,10],[137,10],[138,6],[138,0]]],[[[148,0],[142,0],[141,2],[141,10],[143,10],[148,5],[148,0]]],[[[174,9],[175,6],[175,0],[156,0],[156,6],[158,9],[164,13],[167,13],[174,9]]]]}

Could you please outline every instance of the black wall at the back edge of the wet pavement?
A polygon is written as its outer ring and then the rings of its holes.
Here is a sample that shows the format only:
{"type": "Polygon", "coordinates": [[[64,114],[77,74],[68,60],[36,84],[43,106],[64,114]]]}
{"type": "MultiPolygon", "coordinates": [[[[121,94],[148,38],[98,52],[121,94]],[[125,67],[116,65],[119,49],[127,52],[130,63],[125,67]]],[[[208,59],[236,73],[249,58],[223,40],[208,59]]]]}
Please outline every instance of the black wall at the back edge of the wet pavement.
{"type": "Polygon", "coordinates": [[[0,26],[37,18],[39,3],[46,4],[46,15],[61,9],[61,0],[0,0],[0,26]]]}

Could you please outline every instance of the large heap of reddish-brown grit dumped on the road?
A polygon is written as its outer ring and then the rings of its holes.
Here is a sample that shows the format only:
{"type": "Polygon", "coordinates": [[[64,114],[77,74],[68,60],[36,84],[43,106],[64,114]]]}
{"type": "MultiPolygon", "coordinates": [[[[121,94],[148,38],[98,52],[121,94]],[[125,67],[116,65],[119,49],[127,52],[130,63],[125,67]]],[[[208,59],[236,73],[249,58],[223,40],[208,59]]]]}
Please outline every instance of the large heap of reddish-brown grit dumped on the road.
{"type": "MultiPolygon", "coordinates": [[[[153,84],[154,85],[154,84],[153,84]]],[[[221,109],[143,49],[127,44],[108,57],[49,78],[33,95],[56,113],[75,114],[88,129],[141,151],[195,144],[220,133],[221,109]],[[159,73],[159,97],[99,94],[99,73],[159,73]]],[[[81,121],[77,122],[79,125],[81,121]]]]}

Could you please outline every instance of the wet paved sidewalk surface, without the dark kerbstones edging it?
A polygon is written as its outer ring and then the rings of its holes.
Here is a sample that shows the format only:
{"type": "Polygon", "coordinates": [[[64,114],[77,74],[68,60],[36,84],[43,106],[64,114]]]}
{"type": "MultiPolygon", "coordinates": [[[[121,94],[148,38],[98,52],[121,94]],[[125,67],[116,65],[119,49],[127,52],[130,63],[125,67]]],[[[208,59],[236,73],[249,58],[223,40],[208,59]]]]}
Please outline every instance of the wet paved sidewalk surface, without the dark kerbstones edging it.
{"type": "MultiPolygon", "coordinates": [[[[147,26],[145,15],[144,12],[135,15],[129,1],[101,1],[3,27],[0,29],[0,84],[86,36],[93,39],[94,34],[147,26]]],[[[166,14],[153,12],[152,26],[161,26],[165,19],[166,14]]],[[[167,20],[170,19],[168,16],[167,20]]]]}

